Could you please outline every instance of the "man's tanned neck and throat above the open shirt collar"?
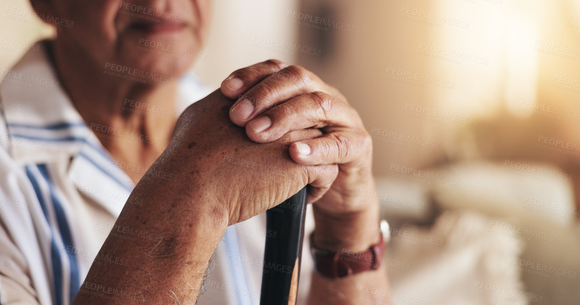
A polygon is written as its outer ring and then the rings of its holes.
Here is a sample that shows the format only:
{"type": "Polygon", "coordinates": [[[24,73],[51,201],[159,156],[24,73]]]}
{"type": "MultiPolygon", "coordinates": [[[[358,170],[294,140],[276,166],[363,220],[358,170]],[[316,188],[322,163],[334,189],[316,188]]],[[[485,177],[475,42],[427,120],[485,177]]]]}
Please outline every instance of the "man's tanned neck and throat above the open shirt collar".
{"type": "Polygon", "coordinates": [[[177,83],[143,84],[107,74],[106,63],[91,62],[59,41],[49,49],[64,89],[103,146],[115,160],[146,170],[166,148],[175,127],[177,83]]]}

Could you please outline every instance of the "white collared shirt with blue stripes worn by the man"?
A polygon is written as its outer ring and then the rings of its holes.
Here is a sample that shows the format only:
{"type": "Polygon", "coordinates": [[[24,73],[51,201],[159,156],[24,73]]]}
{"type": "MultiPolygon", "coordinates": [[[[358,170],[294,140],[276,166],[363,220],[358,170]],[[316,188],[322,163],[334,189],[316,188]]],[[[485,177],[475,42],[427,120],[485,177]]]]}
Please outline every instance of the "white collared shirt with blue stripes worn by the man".
{"type": "MultiPolygon", "coordinates": [[[[93,262],[123,263],[97,258],[108,234],[135,240],[155,232],[114,226],[134,186],[126,171],[135,169],[119,166],[86,126],[44,48],[2,75],[0,304],[70,304],[93,262]]],[[[180,111],[210,92],[193,74],[179,81],[180,111]]],[[[312,227],[309,211],[307,232],[312,227]]],[[[227,228],[198,304],[259,304],[266,234],[264,214],[227,228]]],[[[303,249],[299,300],[312,270],[307,240],[303,249]]],[[[83,288],[132,297],[121,289],[83,288]]]]}

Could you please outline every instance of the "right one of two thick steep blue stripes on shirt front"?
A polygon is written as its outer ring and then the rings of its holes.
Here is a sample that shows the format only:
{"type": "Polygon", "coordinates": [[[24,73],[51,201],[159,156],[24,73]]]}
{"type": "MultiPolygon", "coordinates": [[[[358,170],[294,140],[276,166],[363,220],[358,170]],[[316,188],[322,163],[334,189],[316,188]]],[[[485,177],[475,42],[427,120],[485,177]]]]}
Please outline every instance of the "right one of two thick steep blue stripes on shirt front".
{"type": "Polygon", "coordinates": [[[63,246],[70,262],[70,299],[69,302],[73,302],[75,295],[77,295],[78,289],[81,287],[81,279],[78,270],[77,255],[73,251],[68,251],[68,249],[74,248],[73,234],[71,233],[70,227],[68,226],[67,216],[64,212],[63,206],[60,204],[59,199],[56,197],[55,187],[50,181],[48,175],[48,168],[46,164],[38,164],[38,171],[42,174],[42,177],[46,179],[48,183],[48,188],[50,190],[50,199],[52,199],[52,204],[55,208],[56,222],[59,225],[60,236],[63,238],[63,246]]]}

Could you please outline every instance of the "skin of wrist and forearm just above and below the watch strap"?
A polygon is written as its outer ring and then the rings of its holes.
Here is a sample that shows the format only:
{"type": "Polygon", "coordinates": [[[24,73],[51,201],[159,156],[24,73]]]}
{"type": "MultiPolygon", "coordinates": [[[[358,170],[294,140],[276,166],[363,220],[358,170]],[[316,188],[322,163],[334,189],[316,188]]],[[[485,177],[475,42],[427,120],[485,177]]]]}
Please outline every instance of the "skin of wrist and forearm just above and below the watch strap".
{"type": "MultiPolygon", "coordinates": [[[[329,218],[317,215],[314,229],[314,244],[317,248],[330,251],[366,251],[371,245],[378,244],[380,234],[379,205],[372,205],[360,215],[329,218]]],[[[378,258],[379,260],[382,258],[378,258]]],[[[318,274],[312,276],[309,304],[382,304],[370,299],[362,291],[373,287],[388,295],[389,281],[383,267],[378,270],[363,271],[342,278],[329,278],[318,274]]]]}

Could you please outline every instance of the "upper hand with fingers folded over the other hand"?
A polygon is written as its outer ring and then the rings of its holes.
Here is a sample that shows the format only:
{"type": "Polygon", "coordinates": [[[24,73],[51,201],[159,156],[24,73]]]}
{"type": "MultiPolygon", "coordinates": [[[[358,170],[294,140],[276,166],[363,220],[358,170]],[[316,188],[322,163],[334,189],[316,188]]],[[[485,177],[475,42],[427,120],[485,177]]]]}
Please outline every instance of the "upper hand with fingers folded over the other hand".
{"type": "MultiPolygon", "coordinates": [[[[221,86],[237,101],[230,119],[244,126],[255,142],[277,141],[285,134],[318,128],[322,135],[292,142],[290,156],[305,166],[338,164],[331,188],[315,204],[318,213],[345,216],[376,210],[357,199],[357,189],[374,189],[372,141],[358,113],[333,86],[305,68],[268,60],[239,69],[221,86]]],[[[316,200],[310,196],[309,202],[316,200]]]]}

